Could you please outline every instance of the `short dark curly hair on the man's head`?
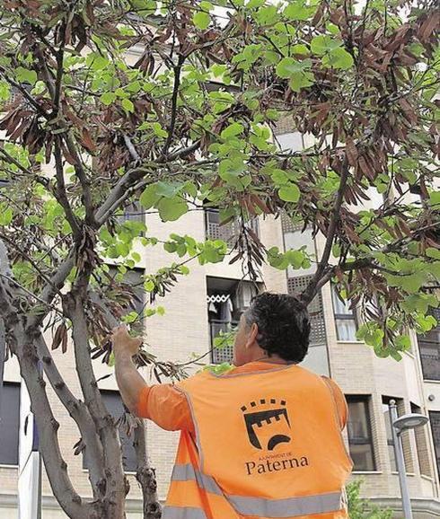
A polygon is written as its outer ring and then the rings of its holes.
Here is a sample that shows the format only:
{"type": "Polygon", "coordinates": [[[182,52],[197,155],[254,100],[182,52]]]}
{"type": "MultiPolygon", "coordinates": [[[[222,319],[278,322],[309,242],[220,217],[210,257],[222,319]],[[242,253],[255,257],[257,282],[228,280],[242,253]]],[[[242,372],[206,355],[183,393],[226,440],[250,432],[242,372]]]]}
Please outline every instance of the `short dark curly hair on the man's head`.
{"type": "Polygon", "coordinates": [[[257,295],[244,312],[248,326],[259,327],[257,342],[268,356],[301,362],[309,349],[310,321],[307,307],[295,295],[257,295]]]}

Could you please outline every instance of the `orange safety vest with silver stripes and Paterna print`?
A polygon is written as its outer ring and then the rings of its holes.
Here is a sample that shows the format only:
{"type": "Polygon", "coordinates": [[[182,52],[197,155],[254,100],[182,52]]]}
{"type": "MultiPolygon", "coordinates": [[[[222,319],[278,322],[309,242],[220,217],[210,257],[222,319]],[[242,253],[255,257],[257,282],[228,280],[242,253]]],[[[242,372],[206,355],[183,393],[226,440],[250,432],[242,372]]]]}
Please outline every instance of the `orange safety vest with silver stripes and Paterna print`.
{"type": "Polygon", "coordinates": [[[347,519],[353,468],[325,377],[299,365],[197,374],[163,519],[347,519]]]}

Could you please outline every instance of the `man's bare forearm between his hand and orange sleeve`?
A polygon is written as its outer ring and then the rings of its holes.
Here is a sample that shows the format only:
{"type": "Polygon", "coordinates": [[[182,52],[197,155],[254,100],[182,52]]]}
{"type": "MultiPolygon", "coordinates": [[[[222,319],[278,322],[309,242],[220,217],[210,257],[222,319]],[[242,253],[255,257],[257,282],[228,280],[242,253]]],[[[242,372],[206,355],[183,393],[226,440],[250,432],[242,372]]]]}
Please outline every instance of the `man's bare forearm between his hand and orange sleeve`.
{"type": "Polygon", "coordinates": [[[122,400],[136,414],[139,397],[146,383],[127,352],[115,354],[115,373],[122,400]]]}

